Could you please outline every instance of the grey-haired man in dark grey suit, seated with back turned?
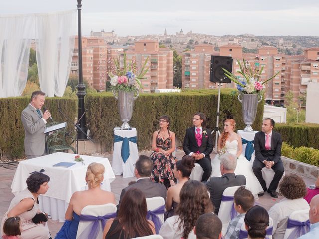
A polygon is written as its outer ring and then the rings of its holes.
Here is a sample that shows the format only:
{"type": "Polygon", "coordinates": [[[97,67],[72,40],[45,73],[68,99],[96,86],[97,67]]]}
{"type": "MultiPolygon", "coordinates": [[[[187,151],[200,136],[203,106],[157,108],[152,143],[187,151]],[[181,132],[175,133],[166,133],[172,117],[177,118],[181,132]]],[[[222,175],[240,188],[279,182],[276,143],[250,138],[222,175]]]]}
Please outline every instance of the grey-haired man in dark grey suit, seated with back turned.
{"type": "Polygon", "coordinates": [[[228,187],[246,185],[244,175],[235,175],[234,171],[237,165],[237,158],[230,153],[225,153],[219,157],[221,177],[211,177],[206,183],[210,193],[210,200],[215,207],[215,213],[218,214],[221,197],[228,187]]]}

